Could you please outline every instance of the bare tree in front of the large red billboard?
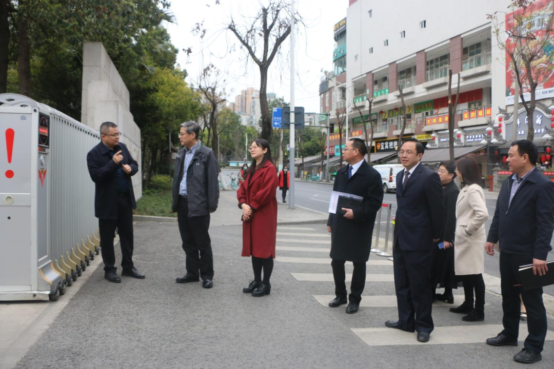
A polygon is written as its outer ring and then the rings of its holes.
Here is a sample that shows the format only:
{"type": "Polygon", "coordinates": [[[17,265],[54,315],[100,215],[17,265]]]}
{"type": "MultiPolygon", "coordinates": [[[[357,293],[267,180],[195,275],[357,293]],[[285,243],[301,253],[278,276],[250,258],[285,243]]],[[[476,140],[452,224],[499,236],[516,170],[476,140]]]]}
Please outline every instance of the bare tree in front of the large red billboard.
{"type": "MultiPolygon", "coordinates": [[[[519,97],[525,107],[528,117],[527,139],[533,141],[535,138],[535,129],[533,114],[536,107],[537,87],[541,87],[543,82],[548,81],[552,74],[551,54],[549,50],[552,46],[552,29],[554,20],[554,10],[545,6],[541,10],[541,17],[537,17],[537,8],[540,3],[530,0],[512,0],[510,17],[506,17],[506,33],[501,32],[500,25],[504,22],[498,21],[496,13],[487,15],[494,24],[494,33],[500,49],[506,51],[509,57],[509,64],[512,67],[514,84],[519,86],[519,97]],[[549,10],[550,9],[550,10],[549,10]],[[526,100],[525,94],[530,96],[526,100]]],[[[511,89],[511,86],[508,86],[511,89]]],[[[518,96],[514,96],[518,98],[518,96]]],[[[517,112],[514,112],[512,124],[517,122],[517,112]]],[[[515,137],[514,137],[515,139],[515,137]]]]}

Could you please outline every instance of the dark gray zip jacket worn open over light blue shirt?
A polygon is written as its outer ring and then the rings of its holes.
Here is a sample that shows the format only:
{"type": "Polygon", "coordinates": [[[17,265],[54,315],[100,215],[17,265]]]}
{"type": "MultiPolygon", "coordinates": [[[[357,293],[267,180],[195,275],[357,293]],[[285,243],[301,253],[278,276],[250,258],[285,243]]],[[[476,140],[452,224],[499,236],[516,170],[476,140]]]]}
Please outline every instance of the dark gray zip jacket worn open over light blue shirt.
{"type": "MultiPolygon", "coordinates": [[[[179,185],[183,178],[184,148],[175,158],[173,175],[173,204],[171,211],[177,211],[179,185]]],[[[188,217],[207,215],[216,211],[219,200],[219,182],[216,155],[203,144],[196,150],[187,170],[188,217]]]]}

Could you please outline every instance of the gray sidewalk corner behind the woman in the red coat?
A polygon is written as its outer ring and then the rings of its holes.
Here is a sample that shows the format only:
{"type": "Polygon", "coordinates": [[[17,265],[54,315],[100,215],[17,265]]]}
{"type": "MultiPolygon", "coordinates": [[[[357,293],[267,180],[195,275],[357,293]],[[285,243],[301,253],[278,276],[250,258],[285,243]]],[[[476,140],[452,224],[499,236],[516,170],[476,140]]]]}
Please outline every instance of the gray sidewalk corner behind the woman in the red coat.
{"type": "MultiPolygon", "coordinates": [[[[289,204],[277,202],[277,224],[315,224],[326,223],[329,214],[307,209],[296,205],[296,209],[289,209],[289,204]]],[[[212,213],[210,226],[242,225],[240,217],[242,210],[238,207],[237,191],[220,191],[217,210],[212,213]]],[[[160,216],[135,215],[133,220],[140,222],[177,223],[177,218],[160,216]]]]}

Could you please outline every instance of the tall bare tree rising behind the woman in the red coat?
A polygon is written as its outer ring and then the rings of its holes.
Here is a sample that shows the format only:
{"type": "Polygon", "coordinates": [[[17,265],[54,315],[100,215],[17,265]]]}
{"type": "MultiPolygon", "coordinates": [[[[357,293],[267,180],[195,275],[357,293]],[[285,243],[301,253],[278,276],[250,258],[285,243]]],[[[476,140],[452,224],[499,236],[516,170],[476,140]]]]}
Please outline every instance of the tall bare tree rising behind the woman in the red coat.
{"type": "MultiPolygon", "coordinates": [[[[270,0],[253,19],[244,18],[243,25],[238,25],[231,19],[227,27],[260,70],[261,138],[265,139],[269,139],[273,133],[267,98],[268,70],[279,53],[281,44],[291,32],[288,7],[289,3],[284,0],[270,0]]],[[[299,15],[295,14],[295,17],[296,22],[302,22],[299,15]]]]}

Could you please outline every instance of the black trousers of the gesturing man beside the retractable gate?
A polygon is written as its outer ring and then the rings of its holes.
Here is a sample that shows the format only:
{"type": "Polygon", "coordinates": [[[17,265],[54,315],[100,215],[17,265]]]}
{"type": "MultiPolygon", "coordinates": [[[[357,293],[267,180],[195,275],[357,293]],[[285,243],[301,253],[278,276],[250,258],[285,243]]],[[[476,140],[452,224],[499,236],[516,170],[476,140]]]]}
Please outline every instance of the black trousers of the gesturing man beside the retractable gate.
{"type": "Polygon", "coordinates": [[[132,269],[133,265],[133,207],[129,194],[117,196],[117,219],[99,219],[100,249],[104,261],[104,271],[115,272],[114,237],[115,228],[119,234],[121,246],[121,267],[132,269]]]}

